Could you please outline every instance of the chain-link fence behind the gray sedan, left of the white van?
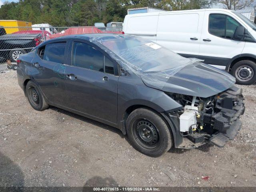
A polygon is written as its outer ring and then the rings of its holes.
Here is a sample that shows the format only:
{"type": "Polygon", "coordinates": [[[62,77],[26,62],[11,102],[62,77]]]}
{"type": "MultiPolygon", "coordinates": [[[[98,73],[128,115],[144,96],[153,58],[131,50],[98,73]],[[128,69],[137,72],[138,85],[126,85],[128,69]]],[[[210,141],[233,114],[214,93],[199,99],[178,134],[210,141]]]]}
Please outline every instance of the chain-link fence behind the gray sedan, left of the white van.
{"type": "Polygon", "coordinates": [[[118,33],[122,27],[17,27],[0,26],[0,63],[16,62],[40,43],[72,34],[118,33]]]}

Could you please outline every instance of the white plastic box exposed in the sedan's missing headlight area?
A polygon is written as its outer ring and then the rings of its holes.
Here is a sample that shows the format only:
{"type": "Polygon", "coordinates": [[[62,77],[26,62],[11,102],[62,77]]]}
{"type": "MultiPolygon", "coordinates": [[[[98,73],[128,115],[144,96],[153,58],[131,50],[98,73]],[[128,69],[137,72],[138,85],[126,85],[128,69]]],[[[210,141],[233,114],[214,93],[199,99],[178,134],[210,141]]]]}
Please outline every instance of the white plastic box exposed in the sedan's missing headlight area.
{"type": "Polygon", "coordinates": [[[184,113],[180,115],[180,131],[189,131],[190,126],[196,128],[196,113],[198,112],[198,107],[186,105],[184,107],[184,113]]]}

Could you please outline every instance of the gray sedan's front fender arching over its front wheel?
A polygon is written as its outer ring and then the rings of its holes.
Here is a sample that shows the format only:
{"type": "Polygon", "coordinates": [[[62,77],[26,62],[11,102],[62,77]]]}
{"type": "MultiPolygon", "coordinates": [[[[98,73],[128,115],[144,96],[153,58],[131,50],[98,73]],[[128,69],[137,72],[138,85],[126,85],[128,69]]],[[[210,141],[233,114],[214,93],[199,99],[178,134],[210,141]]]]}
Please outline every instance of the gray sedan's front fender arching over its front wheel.
{"type": "Polygon", "coordinates": [[[172,130],[174,142],[179,130],[176,120],[171,120],[169,112],[182,108],[182,105],[170,98],[165,92],[146,86],[140,78],[119,78],[118,80],[118,116],[119,128],[124,134],[125,114],[132,106],[144,106],[159,112],[172,130]]]}

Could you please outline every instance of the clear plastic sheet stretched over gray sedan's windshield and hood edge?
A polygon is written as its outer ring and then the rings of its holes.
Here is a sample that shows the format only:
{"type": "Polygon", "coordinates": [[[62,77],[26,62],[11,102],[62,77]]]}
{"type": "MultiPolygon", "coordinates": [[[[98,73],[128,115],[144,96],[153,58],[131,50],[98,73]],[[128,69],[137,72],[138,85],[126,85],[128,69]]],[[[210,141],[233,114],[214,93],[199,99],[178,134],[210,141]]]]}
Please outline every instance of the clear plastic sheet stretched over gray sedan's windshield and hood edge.
{"type": "Polygon", "coordinates": [[[132,70],[144,82],[157,88],[162,88],[164,82],[185,66],[202,61],[184,58],[150,40],[136,36],[106,36],[92,41],[100,43],[101,47],[103,45],[105,51],[125,70],[132,70]]]}

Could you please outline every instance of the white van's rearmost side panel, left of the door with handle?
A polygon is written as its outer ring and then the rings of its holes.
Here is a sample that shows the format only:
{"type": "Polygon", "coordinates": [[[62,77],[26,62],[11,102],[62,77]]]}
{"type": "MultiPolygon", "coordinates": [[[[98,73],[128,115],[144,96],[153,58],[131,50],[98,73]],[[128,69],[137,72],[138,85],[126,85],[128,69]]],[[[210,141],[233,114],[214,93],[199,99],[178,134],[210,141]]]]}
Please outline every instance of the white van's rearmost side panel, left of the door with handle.
{"type": "Polygon", "coordinates": [[[124,18],[123,32],[156,42],[158,13],[132,14],[124,18]]]}

